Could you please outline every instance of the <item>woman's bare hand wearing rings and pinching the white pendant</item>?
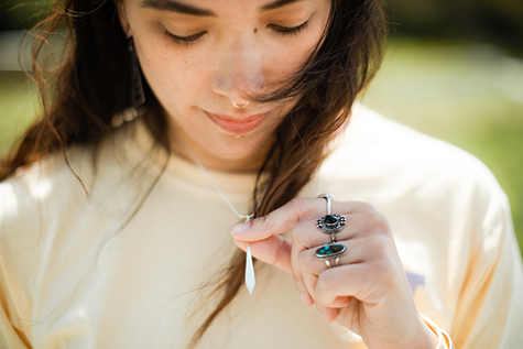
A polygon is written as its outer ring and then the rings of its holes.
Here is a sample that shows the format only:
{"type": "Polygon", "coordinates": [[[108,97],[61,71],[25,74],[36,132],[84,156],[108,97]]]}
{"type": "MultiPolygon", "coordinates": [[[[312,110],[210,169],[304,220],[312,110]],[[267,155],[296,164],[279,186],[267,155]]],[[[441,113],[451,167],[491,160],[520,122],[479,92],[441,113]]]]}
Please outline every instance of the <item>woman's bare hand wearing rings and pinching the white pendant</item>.
{"type": "Polygon", "coordinates": [[[359,334],[369,348],[435,348],[436,335],[420,316],[386,218],[371,205],[333,200],[347,225],[336,240],[348,248],[339,265],[314,257],[330,242],[316,228],[326,212],[323,198],[296,198],[268,216],[233,227],[235,242],[292,275],[306,306],[327,323],[359,334]],[[280,236],[292,231],[292,241],[280,236]]]}

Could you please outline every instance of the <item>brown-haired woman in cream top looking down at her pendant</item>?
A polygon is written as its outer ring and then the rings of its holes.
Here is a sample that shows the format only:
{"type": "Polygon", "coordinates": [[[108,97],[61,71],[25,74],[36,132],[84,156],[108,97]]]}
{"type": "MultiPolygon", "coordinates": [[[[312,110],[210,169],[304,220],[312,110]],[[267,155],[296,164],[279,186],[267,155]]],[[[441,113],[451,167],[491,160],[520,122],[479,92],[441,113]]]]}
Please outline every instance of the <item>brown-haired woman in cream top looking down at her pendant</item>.
{"type": "Polygon", "coordinates": [[[58,10],[50,103],[2,167],[1,346],[522,342],[495,179],[355,105],[381,56],[378,3],[58,10]]]}

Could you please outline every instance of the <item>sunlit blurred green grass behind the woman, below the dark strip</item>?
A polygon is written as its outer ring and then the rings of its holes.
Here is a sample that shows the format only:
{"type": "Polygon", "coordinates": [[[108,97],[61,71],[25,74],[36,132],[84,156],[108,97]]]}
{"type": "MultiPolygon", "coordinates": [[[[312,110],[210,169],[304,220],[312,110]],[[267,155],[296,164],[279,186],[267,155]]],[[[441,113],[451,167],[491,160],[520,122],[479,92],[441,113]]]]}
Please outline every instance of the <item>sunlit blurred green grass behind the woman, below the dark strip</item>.
{"type": "MultiPolygon", "coordinates": [[[[482,160],[508,193],[523,251],[523,62],[481,44],[396,41],[363,102],[482,160]]],[[[0,72],[0,154],[31,122],[36,89],[0,72]]]]}

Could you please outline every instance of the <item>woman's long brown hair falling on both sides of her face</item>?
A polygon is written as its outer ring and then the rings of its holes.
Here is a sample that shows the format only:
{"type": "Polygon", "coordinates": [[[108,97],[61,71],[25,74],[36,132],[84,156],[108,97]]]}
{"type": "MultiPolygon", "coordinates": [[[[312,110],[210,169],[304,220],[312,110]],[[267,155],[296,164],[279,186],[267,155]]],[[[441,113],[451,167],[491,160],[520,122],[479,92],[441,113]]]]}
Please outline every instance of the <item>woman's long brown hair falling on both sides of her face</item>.
{"type": "MultiPolygon", "coordinates": [[[[297,99],[275,131],[253,193],[255,215],[264,216],[295,197],[327,155],[327,145],[350,114],[357,96],[375,74],[383,53],[385,19],[379,0],[331,0],[324,37],[301,73],[266,100],[297,99]]],[[[113,132],[115,113],[131,105],[131,56],[113,0],[57,0],[54,12],[36,29],[33,76],[43,113],[0,167],[0,181],[26,164],[74,144],[96,146],[113,132]],[[63,63],[47,80],[39,53],[53,33],[66,26],[63,63]],[[129,91],[129,92],[127,92],[129,91]]],[[[167,120],[144,81],[146,112],[154,138],[168,150],[167,120]]],[[[243,282],[244,253],[232,255],[226,276],[213,290],[219,295],[190,347],[194,347],[243,282]]]]}

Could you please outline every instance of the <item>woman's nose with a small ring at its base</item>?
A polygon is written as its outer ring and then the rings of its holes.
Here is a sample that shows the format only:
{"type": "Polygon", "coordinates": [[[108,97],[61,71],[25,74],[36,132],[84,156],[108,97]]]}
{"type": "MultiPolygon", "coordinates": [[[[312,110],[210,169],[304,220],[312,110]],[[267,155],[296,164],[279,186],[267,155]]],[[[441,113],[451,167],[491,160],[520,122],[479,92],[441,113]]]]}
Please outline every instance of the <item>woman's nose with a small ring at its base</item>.
{"type": "Polygon", "coordinates": [[[263,91],[265,75],[263,52],[254,37],[235,37],[216,57],[213,90],[225,96],[236,108],[244,108],[251,96],[263,91]]]}

